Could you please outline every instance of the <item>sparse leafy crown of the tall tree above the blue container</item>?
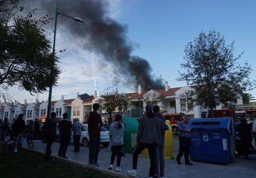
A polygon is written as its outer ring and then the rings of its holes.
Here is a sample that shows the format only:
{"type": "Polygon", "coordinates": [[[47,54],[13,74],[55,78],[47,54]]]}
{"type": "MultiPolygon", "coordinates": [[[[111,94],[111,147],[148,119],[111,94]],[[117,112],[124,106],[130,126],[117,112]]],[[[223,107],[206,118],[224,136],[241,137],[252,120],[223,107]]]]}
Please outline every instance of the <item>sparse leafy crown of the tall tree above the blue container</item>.
{"type": "Polygon", "coordinates": [[[186,45],[181,64],[184,72],[179,72],[178,81],[195,89],[191,97],[196,104],[210,110],[220,103],[229,106],[242,92],[255,87],[255,81],[249,79],[251,66],[239,64],[242,54],[234,57],[233,52],[233,43],[226,45],[224,36],[215,31],[201,32],[186,45]]]}

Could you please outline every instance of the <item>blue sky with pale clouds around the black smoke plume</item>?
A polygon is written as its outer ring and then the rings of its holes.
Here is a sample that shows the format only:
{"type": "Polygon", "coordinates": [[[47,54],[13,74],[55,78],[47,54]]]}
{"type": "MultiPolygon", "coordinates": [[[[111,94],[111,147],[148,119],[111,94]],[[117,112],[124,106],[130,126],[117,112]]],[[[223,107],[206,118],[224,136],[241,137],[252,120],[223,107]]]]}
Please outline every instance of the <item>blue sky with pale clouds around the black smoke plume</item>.
{"type": "MultiPolygon", "coordinates": [[[[182,70],[180,63],[186,44],[200,32],[208,33],[209,30],[224,35],[227,44],[235,42],[235,56],[244,52],[239,63],[248,61],[253,68],[250,78],[255,79],[255,6],[253,0],[109,0],[109,15],[127,26],[127,39],[134,48],[132,54],[147,59],[153,74],[162,76],[172,88],[186,85],[176,81],[178,70],[182,70]]],[[[122,83],[113,84],[113,78],[120,77],[114,66],[102,64],[101,55],[84,49],[81,41],[67,34],[63,26],[58,28],[56,40],[57,50],[65,49],[66,52],[58,52],[61,75],[58,86],[53,88],[53,100],[60,99],[61,95],[66,95],[67,99],[75,98],[77,93],[92,95],[95,85],[100,94],[107,87],[134,92],[134,84],[129,88],[122,83]]],[[[36,97],[46,101],[48,97],[48,92],[30,95],[17,88],[9,88],[7,92],[21,103],[24,99],[34,102],[36,97]]],[[[256,97],[256,90],[250,93],[256,97]]]]}

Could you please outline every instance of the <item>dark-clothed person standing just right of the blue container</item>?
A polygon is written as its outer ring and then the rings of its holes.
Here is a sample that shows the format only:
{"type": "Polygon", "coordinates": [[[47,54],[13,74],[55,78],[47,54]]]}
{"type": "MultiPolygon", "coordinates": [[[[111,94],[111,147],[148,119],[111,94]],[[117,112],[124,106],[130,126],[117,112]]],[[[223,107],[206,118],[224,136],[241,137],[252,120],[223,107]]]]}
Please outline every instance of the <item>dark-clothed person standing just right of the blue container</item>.
{"type": "Polygon", "coordinates": [[[251,126],[246,122],[246,119],[242,119],[241,123],[237,125],[237,131],[239,132],[239,137],[244,145],[244,157],[248,160],[249,148],[251,145],[251,126]]]}

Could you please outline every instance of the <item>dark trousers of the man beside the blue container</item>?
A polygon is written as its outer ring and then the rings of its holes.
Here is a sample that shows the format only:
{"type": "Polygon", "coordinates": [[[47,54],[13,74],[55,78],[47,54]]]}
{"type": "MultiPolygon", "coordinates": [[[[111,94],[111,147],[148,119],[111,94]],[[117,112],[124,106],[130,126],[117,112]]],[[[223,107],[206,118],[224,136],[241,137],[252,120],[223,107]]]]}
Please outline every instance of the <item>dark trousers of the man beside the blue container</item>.
{"type": "Polygon", "coordinates": [[[190,138],[179,137],[180,141],[180,150],[178,151],[178,155],[176,157],[177,160],[180,160],[184,153],[185,163],[190,163],[189,161],[189,148],[190,148],[190,138]]]}

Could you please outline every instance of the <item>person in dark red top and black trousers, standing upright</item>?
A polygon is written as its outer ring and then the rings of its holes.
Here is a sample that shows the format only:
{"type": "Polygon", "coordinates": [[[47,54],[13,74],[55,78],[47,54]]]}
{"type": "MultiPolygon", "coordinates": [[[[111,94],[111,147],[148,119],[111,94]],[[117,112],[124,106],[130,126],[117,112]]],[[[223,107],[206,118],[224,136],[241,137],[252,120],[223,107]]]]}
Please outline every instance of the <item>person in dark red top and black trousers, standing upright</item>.
{"type": "Polygon", "coordinates": [[[103,126],[101,115],[98,114],[100,104],[92,105],[92,112],[88,118],[89,132],[89,164],[98,167],[98,153],[100,152],[100,127],[103,126]]]}

